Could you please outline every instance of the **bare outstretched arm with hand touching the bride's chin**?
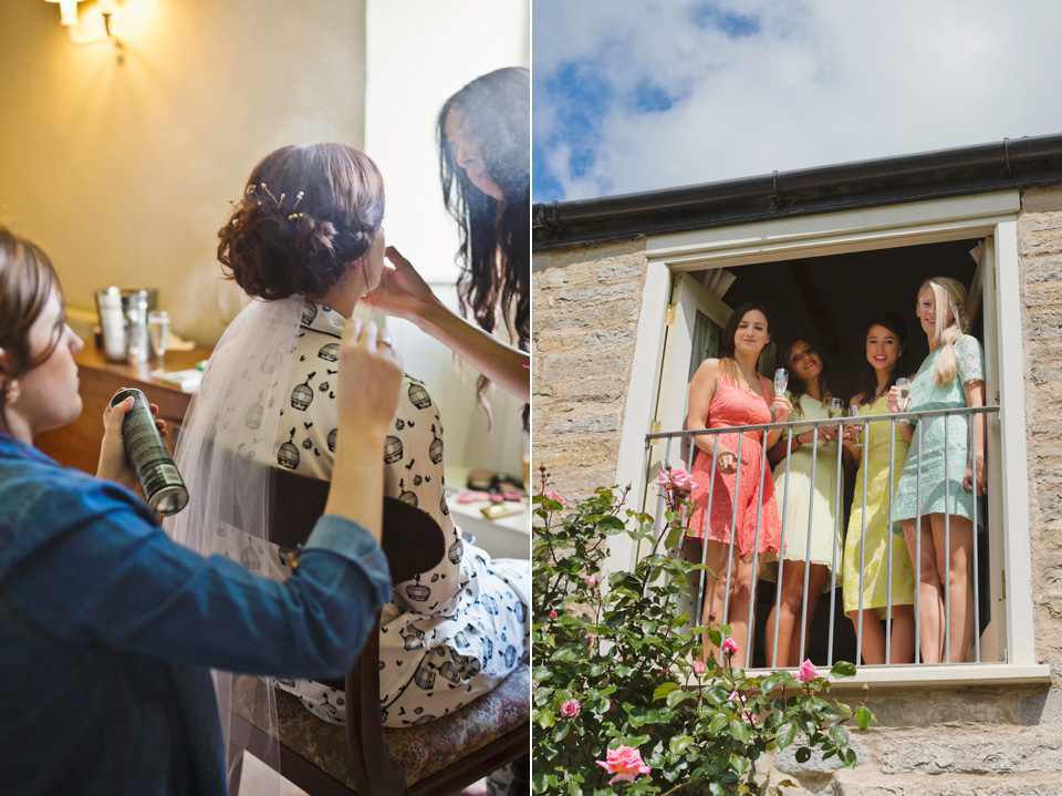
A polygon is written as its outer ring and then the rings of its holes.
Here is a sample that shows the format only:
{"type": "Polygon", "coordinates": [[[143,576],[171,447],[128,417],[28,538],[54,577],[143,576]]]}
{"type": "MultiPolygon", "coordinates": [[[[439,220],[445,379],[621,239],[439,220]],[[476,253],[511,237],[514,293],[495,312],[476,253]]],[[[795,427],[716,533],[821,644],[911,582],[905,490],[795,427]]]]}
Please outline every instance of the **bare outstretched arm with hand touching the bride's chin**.
{"type": "Polygon", "coordinates": [[[416,323],[420,331],[471,362],[503,390],[525,403],[530,401],[530,356],[449,310],[394,246],[388,246],[384,255],[393,267],[384,267],[379,287],[364,296],[361,303],[416,323]]]}

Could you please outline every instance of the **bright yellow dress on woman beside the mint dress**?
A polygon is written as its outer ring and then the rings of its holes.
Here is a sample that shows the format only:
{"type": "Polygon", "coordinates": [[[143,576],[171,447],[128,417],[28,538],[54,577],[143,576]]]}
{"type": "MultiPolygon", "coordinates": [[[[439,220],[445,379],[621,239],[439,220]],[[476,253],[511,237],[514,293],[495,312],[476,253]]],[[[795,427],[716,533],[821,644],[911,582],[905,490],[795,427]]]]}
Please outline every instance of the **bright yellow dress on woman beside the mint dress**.
{"type": "MultiPolygon", "coordinates": [[[[887,414],[885,396],[873,404],[861,406],[861,415],[887,414]]],[[[912,604],[915,601],[915,576],[907,556],[904,539],[891,533],[888,525],[889,483],[888,453],[889,431],[893,431],[893,510],[895,511],[896,486],[904,472],[907,458],[907,441],[899,428],[888,421],[867,423],[863,433],[863,458],[855,478],[855,495],[852,499],[852,514],[844,539],[844,611],[860,609],[860,595],[863,608],[875,608],[882,619],[887,616],[889,604],[912,604]],[[866,474],[866,511],[863,507],[863,479],[866,474]],[[864,539],[864,517],[866,521],[864,539]],[[861,566],[862,561],[862,566],[861,566]],[[889,564],[891,562],[891,564],[889,564]],[[862,588],[861,588],[862,571],[862,588]],[[892,575],[892,596],[888,593],[892,575]]]]}

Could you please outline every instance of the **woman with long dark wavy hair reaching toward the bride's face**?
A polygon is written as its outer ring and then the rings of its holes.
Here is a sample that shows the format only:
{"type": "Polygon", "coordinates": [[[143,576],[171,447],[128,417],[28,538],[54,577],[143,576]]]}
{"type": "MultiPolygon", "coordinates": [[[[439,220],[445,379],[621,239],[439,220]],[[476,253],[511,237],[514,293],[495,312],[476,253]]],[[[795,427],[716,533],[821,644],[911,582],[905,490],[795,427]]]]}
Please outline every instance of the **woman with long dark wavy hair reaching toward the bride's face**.
{"type": "Polygon", "coordinates": [[[531,394],[530,101],[528,70],[499,69],[454,94],[438,116],[442,199],[461,232],[458,294],[476,323],[447,309],[394,247],[394,267],[363,300],[468,360],[481,374],[481,402],[489,381],[522,401],[531,394]],[[508,344],[493,337],[500,327],[508,344]]]}

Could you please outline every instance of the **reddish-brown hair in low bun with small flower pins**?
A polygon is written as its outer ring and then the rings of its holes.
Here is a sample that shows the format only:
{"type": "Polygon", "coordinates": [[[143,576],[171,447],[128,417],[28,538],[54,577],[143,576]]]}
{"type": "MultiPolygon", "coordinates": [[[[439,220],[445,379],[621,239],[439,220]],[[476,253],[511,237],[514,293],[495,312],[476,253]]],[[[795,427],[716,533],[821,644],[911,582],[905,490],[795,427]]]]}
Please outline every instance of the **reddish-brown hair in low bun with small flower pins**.
{"type": "Polygon", "coordinates": [[[384,180],[343,144],[285,146],[251,172],[218,231],[218,260],[248,294],[320,297],[343,281],[384,217],[384,180]]]}

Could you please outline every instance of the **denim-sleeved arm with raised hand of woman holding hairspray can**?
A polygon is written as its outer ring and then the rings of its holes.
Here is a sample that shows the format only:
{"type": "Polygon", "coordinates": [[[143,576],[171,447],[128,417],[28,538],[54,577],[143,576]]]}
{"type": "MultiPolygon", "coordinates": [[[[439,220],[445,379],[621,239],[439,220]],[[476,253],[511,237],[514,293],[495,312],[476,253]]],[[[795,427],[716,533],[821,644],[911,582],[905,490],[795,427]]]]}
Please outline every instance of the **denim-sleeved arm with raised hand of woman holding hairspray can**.
{"type": "MultiPolygon", "coordinates": [[[[53,637],[178,663],[280,676],[345,672],[391,595],[378,545],[383,465],[366,452],[383,448],[402,366],[377,344],[375,324],[356,319],[340,365],[333,488],[292,578],[274,582],[219,556],[204,559],[170,540],[126,490],[106,482],[85,489],[60,473],[27,484],[35,507],[19,516],[51,528],[50,538],[27,548],[8,606],[53,637]]],[[[101,456],[101,473],[118,482],[128,465],[115,437],[127,411],[119,404],[108,416],[101,456]]]]}

